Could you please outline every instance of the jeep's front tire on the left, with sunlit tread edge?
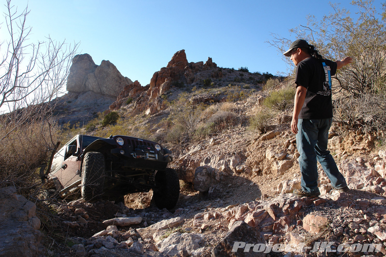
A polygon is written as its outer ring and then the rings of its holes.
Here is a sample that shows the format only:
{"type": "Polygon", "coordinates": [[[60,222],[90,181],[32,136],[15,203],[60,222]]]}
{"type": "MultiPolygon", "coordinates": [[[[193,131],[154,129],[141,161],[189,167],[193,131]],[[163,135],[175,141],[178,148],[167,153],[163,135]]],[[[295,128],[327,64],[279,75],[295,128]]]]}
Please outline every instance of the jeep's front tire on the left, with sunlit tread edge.
{"type": "Polygon", "coordinates": [[[98,200],[103,194],[105,182],[105,158],[98,152],[88,152],[82,165],[81,195],[84,200],[98,200]]]}

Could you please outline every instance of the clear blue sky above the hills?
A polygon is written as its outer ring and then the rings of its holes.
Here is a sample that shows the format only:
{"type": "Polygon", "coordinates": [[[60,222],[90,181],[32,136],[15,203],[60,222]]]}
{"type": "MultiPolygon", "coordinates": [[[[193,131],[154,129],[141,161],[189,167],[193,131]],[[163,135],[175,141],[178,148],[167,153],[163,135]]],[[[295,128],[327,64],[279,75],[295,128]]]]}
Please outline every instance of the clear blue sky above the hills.
{"type": "MultiPolygon", "coordinates": [[[[341,2],[340,7],[351,8],[351,1],[341,2]]],[[[4,13],[6,1],[0,3],[4,13]]],[[[212,57],[220,67],[248,67],[274,75],[287,72],[282,54],[266,43],[272,40],[271,33],[295,40],[288,30],[306,25],[308,14],[320,19],[333,11],[325,0],[13,0],[11,4],[21,11],[27,3],[31,43],[48,34],[57,41],[79,42],[79,53],[90,54],[98,65],[109,60],[142,86],[181,49],[189,62],[212,57]]],[[[1,26],[3,41],[5,24],[1,26]]]]}

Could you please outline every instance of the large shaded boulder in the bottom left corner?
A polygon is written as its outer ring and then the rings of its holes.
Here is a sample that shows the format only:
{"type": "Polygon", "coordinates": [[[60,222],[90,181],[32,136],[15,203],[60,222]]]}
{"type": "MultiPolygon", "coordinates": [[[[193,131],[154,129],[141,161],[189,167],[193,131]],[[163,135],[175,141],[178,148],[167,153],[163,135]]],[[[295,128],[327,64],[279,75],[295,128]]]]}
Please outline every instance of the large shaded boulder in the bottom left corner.
{"type": "Polygon", "coordinates": [[[14,187],[0,189],[0,256],[41,256],[43,234],[36,205],[14,187]]]}

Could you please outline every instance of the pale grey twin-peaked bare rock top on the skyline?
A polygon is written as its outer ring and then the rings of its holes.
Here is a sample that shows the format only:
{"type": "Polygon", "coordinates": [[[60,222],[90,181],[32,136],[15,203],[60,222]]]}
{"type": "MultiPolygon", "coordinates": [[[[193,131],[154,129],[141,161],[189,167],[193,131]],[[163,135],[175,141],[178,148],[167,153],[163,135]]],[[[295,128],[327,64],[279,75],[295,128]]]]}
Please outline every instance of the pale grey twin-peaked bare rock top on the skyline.
{"type": "Polygon", "coordinates": [[[67,91],[81,93],[92,91],[101,95],[117,97],[124,86],[133,82],[123,77],[110,61],[96,65],[89,54],[76,55],[67,80],[67,91]]]}

